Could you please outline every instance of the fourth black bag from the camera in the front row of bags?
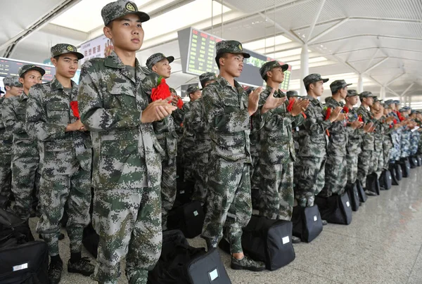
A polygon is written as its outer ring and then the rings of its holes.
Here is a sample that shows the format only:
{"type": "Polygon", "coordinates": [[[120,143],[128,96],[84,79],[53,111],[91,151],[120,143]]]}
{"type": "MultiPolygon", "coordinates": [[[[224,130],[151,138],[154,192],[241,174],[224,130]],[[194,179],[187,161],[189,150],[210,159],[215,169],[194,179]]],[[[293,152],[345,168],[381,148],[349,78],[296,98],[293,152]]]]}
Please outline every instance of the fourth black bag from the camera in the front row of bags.
{"type": "Polygon", "coordinates": [[[347,193],[331,195],[329,198],[315,196],[321,218],[328,223],[349,225],[352,223],[352,207],[347,193]]]}

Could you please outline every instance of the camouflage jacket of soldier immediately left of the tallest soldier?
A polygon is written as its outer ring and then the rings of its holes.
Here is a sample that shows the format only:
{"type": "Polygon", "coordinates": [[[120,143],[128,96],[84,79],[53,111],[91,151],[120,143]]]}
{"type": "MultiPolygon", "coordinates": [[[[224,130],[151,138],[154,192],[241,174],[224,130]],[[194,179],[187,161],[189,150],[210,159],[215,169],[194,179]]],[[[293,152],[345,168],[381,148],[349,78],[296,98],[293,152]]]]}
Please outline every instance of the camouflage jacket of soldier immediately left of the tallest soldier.
{"type": "Polygon", "coordinates": [[[40,168],[49,174],[73,174],[79,165],[91,171],[91,137],[89,132],[68,131],[77,121],[70,102],[77,99],[77,84],[65,91],[56,77],[49,83],[30,89],[26,110],[26,129],[38,139],[40,168]]]}

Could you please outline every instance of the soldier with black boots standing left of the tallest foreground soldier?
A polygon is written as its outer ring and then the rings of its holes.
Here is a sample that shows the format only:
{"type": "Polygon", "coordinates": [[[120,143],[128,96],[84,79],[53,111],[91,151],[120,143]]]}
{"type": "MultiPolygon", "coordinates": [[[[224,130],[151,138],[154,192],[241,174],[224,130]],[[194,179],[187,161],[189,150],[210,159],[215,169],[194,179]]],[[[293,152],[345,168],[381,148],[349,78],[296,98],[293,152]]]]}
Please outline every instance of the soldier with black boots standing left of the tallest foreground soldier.
{"type": "Polygon", "coordinates": [[[77,84],[72,77],[82,58],[82,53],[70,44],[51,47],[56,76],[49,83],[32,86],[27,100],[27,133],[37,138],[40,152],[42,215],[37,233],[49,245],[51,284],[60,282],[63,270],[58,233],[65,205],[71,253],[68,272],[85,276],[94,272],[94,266],[81,256],[82,233],[89,224],[91,205],[91,138],[71,108],[71,102],[77,99],[77,84]]]}

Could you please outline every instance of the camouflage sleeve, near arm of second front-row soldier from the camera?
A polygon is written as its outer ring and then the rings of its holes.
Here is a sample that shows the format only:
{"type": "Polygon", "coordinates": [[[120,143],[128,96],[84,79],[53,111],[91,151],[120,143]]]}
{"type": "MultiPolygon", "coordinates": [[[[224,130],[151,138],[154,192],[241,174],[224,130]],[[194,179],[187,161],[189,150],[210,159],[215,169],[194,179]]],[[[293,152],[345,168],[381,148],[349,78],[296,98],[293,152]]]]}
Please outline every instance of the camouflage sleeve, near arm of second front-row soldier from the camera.
{"type": "Polygon", "coordinates": [[[219,133],[235,133],[250,129],[248,109],[238,110],[234,106],[225,106],[218,96],[215,86],[203,90],[205,115],[210,129],[219,133]]]}

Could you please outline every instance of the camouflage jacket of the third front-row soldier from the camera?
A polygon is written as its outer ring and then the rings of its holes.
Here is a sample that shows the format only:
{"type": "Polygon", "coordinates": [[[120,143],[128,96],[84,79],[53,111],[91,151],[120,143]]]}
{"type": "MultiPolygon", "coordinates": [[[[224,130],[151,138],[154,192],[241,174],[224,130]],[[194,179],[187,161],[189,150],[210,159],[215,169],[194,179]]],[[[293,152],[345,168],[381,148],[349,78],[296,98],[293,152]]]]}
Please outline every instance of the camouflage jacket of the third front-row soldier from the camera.
{"type": "MultiPolygon", "coordinates": [[[[260,113],[262,105],[267,100],[271,87],[262,91],[260,95],[260,113]]],[[[285,93],[278,90],[274,92],[276,98],[283,98],[285,93]]],[[[296,159],[295,143],[293,141],[292,126],[300,126],[305,119],[302,114],[293,117],[287,111],[288,101],[279,108],[269,110],[262,115],[262,127],[260,129],[260,163],[261,164],[286,164],[296,159]]]]}

